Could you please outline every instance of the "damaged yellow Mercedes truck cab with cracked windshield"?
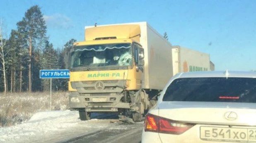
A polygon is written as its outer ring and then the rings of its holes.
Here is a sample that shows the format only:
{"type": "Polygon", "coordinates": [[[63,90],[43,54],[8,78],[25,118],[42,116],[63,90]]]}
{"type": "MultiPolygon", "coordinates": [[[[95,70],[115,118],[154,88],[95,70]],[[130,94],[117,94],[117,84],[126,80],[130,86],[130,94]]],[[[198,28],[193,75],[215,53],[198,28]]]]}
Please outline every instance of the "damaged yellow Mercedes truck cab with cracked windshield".
{"type": "Polygon", "coordinates": [[[104,26],[86,28],[86,40],[74,43],[69,54],[69,105],[79,110],[81,120],[88,120],[91,112],[140,108],[135,99],[144,80],[139,38],[138,25],[104,26]]]}

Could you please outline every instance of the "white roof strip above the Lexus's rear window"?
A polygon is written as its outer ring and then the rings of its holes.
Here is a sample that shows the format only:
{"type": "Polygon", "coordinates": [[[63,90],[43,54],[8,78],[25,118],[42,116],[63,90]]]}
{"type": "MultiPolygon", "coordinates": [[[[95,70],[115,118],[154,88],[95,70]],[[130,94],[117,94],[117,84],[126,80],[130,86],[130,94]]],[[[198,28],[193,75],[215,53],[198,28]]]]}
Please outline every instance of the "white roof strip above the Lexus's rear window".
{"type": "Polygon", "coordinates": [[[175,77],[251,77],[256,78],[256,72],[253,71],[198,71],[178,73],[175,77]]]}

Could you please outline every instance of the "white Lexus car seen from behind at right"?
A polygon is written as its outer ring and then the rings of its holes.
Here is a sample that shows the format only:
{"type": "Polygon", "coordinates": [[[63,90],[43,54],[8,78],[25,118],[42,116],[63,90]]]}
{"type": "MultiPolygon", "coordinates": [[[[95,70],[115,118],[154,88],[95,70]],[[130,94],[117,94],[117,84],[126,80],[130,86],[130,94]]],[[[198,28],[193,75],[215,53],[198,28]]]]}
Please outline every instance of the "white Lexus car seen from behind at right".
{"type": "Polygon", "coordinates": [[[142,143],[256,143],[256,72],[171,78],[145,116],[142,143]]]}

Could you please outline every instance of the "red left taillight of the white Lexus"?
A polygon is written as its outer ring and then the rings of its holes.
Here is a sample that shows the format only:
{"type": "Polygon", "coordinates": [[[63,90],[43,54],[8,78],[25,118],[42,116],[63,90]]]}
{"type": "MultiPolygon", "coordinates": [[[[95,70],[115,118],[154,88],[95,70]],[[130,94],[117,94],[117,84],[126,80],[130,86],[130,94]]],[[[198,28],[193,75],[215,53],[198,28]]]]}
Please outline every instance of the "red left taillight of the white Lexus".
{"type": "Polygon", "coordinates": [[[145,131],[159,132],[165,134],[182,134],[195,124],[178,122],[156,115],[145,116],[145,131]]]}

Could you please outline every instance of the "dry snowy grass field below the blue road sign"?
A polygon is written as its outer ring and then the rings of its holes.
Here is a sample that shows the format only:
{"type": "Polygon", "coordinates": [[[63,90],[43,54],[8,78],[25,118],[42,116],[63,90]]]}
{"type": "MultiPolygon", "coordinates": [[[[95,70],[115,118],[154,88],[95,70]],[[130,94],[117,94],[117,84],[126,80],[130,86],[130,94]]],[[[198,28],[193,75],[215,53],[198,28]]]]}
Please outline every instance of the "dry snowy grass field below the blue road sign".
{"type": "MultiPolygon", "coordinates": [[[[51,110],[68,109],[68,92],[53,92],[51,110]]],[[[0,127],[21,124],[37,112],[50,110],[50,93],[0,93],[0,127]]]]}

